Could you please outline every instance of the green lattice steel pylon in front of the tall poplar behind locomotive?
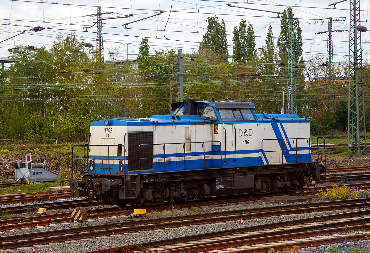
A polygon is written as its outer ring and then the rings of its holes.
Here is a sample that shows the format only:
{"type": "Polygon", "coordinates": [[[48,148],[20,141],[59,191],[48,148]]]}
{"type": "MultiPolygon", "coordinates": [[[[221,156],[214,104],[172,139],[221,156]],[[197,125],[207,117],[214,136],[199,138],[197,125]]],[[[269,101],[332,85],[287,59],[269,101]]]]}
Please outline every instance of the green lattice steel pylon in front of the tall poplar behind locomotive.
{"type": "Polygon", "coordinates": [[[289,113],[297,113],[297,90],[296,90],[296,55],[295,55],[295,33],[294,20],[295,18],[288,18],[289,20],[289,36],[288,36],[288,88],[289,86],[289,113]]]}

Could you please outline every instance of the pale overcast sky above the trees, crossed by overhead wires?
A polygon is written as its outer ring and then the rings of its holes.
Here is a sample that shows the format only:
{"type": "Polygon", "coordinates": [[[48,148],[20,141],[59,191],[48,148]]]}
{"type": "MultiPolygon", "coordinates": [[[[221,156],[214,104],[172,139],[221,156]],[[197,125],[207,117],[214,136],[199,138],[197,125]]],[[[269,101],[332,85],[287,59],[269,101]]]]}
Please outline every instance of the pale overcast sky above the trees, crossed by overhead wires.
{"type": "MultiPolygon", "coordinates": [[[[338,0],[336,0],[338,1],[338,0]]],[[[22,1],[22,0],[0,0],[0,41],[12,37],[23,30],[32,27],[45,27],[43,31],[27,31],[10,40],[0,43],[0,57],[7,57],[7,49],[14,45],[45,46],[50,49],[58,33],[67,35],[73,31],[78,38],[90,42],[96,46],[96,25],[88,29],[83,27],[92,25],[96,16],[83,17],[97,13],[100,6],[102,13],[115,12],[117,14],[105,14],[103,17],[118,17],[133,13],[129,18],[117,18],[104,21],[103,40],[105,59],[111,48],[117,48],[120,59],[136,58],[141,39],[146,37],[150,45],[150,53],[154,50],[183,49],[183,52],[192,52],[202,41],[202,35],[207,30],[205,22],[208,16],[217,16],[226,23],[226,33],[229,45],[229,54],[232,54],[232,32],[234,26],[239,26],[240,20],[244,19],[253,24],[256,36],[256,47],[265,45],[265,36],[268,26],[272,25],[275,35],[275,43],[280,34],[280,18],[277,14],[242,8],[226,6],[231,3],[235,6],[255,8],[269,11],[282,12],[287,6],[293,8],[293,14],[299,18],[302,28],[303,57],[312,54],[323,54],[326,58],[327,35],[315,35],[319,31],[327,31],[327,21],[315,19],[333,18],[333,30],[349,30],[349,4],[350,1],[337,4],[337,8],[328,6],[336,1],[327,0],[250,0],[231,2],[225,0],[106,0],[106,1],[81,1],[81,0],[46,0],[22,1]],[[172,9],[171,9],[172,4],[172,9]],[[159,13],[159,16],[148,18],[127,25],[122,24],[139,20],[159,13]],[[172,10],[170,12],[170,10],[172,10]],[[345,17],[337,22],[334,18],[345,17]],[[45,20],[45,22],[44,22],[45,20]],[[168,22],[167,22],[168,20],[168,22]]],[[[368,18],[369,1],[360,1],[361,25],[369,26],[365,22],[368,18]]],[[[370,21],[370,19],[369,19],[370,21]]],[[[370,28],[369,28],[370,30],[370,28]]],[[[370,35],[362,34],[362,48],[364,61],[367,60],[367,44],[370,35]]],[[[334,61],[343,61],[348,58],[349,33],[333,33],[334,61]]]]}

